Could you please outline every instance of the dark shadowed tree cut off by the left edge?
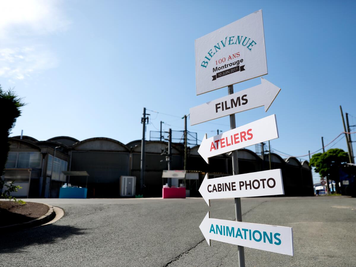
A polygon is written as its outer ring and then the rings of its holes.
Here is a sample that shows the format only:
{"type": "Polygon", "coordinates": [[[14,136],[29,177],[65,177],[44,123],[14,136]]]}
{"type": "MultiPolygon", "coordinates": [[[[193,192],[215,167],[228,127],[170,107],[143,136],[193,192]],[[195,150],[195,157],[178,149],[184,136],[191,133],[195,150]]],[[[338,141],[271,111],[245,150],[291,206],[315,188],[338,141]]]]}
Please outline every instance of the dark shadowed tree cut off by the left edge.
{"type": "MultiPolygon", "coordinates": [[[[11,89],[3,91],[0,85],[0,176],[4,174],[7,154],[10,151],[10,131],[14,127],[17,117],[21,115],[20,108],[24,105],[25,103],[22,102],[22,99],[17,96],[14,91],[11,89]]],[[[14,189],[14,186],[11,185],[10,187],[5,185],[7,187],[6,191],[14,189]]],[[[4,188],[4,180],[0,178],[0,190],[2,188],[4,188]]],[[[4,195],[6,196],[6,194],[4,195]]],[[[4,195],[2,195],[2,197],[4,197],[4,195]]]]}

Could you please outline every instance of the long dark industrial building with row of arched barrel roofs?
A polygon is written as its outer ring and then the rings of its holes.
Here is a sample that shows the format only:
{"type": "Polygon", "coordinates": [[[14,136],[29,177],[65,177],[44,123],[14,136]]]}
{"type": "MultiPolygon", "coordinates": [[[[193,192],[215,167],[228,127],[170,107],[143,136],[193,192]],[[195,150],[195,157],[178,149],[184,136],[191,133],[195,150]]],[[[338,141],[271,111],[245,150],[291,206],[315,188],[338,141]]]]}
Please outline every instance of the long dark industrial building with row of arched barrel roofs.
{"type": "MultiPolygon", "coordinates": [[[[38,141],[29,136],[10,138],[10,152],[3,179],[15,181],[22,189],[15,193],[18,197],[58,198],[59,188],[64,183],[85,187],[88,198],[119,198],[120,176],[135,176],[136,194],[141,193],[141,140],[121,143],[105,137],[79,141],[68,136],[58,136],[46,141],[38,141]],[[54,158],[54,161],[53,161],[54,158]],[[86,171],[89,176],[64,176],[62,171],[86,171]]],[[[167,170],[167,142],[146,141],[144,197],[161,197],[162,171],[167,170]]],[[[200,197],[198,192],[206,172],[209,178],[232,174],[229,153],[209,159],[206,164],[198,153],[199,146],[188,149],[187,189],[191,197],[200,197]],[[188,175],[189,174],[189,175],[188,175]]],[[[269,155],[264,160],[247,149],[238,151],[239,173],[250,173],[269,169],[269,155]]],[[[174,170],[184,166],[184,146],[172,143],[172,164],[174,170]]],[[[271,153],[271,168],[282,169],[286,196],[314,195],[311,169],[307,161],[296,158],[283,159],[271,153]]],[[[183,181],[179,181],[182,183],[183,181]]]]}

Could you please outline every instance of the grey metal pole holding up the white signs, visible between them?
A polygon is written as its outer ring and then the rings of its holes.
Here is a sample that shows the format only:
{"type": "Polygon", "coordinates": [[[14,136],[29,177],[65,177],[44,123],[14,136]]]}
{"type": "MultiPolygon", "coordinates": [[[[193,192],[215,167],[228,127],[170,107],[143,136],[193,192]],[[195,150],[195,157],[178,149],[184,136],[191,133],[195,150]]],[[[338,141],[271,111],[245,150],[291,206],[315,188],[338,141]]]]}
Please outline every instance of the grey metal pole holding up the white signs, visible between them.
{"type": "MultiPolygon", "coordinates": [[[[234,85],[228,87],[229,95],[234,93],[234,85]]],[[[230,115],[230,129],[236,128],[235,114],[230,115]]],[[[232,151],[232,175],[239,174],[239,162],[237,150],[232,151]]],[[[235,216],[236,221],[242,221],[241,199],[235,198],[235,216]]],[[[237,255],[239,257],[239,267],[245,267],[245,251],[243,246],[237,246],[237,255]]]]}

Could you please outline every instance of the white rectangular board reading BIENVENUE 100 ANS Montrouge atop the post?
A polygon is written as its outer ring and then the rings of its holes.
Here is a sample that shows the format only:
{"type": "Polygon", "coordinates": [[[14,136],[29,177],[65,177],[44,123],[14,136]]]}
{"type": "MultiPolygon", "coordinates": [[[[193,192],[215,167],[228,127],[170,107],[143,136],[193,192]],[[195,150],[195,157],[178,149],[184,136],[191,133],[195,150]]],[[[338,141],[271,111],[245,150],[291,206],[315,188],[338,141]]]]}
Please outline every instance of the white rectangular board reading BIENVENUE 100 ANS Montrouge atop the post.
{"type": "Polygon", "coordinates": [[[195,40],[197,95],[265,74],[262,10],[195,40]]]}

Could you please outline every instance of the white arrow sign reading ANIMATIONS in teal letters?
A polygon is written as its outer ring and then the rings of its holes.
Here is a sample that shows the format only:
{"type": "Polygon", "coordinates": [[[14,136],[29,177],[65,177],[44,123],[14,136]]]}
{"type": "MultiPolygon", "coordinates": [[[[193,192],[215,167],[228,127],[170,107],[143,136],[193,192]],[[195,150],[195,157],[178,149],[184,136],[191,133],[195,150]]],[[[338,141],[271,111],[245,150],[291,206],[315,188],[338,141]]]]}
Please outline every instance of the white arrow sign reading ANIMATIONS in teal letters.
{"type": "Polygon", "coordinates": [[[209,246],[216,240],[293,256],[291,227],[213,219],[208,212],[199,228],[209,246]]]}

